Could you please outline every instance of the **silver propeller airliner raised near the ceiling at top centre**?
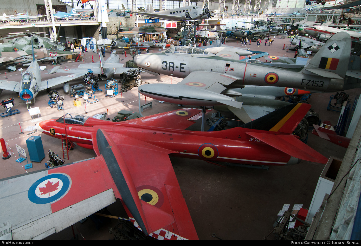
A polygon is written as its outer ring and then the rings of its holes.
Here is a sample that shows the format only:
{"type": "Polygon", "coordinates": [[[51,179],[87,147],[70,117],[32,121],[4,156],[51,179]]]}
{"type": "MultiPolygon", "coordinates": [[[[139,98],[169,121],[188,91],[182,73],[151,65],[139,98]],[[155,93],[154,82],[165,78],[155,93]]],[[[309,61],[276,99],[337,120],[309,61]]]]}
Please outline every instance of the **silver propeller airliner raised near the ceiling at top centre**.
{"type": "MultiPolygon", "coordinates": [[[[141,14],[143,16],[149,16],[153,18],[159,18],[167,21],[182,21],[182,27],[186,26],[186,21],[195,21],[195,20],[204,20],[211,18],[212,15],[208,9],[208,3],[204,5],[204,8],[200,8],[197,6],[186,6],[182,8],[176,9],[168,9],[163,11],[155,12],[152,5],[147,5],[147,13],[144,12],[133,12],[135,14],[141,14]]],[[[211,18],[212,19],[212,18],[211,18]]],[[[195,21],[195,25],[197,26],[199,22],[195,21]]]]}

